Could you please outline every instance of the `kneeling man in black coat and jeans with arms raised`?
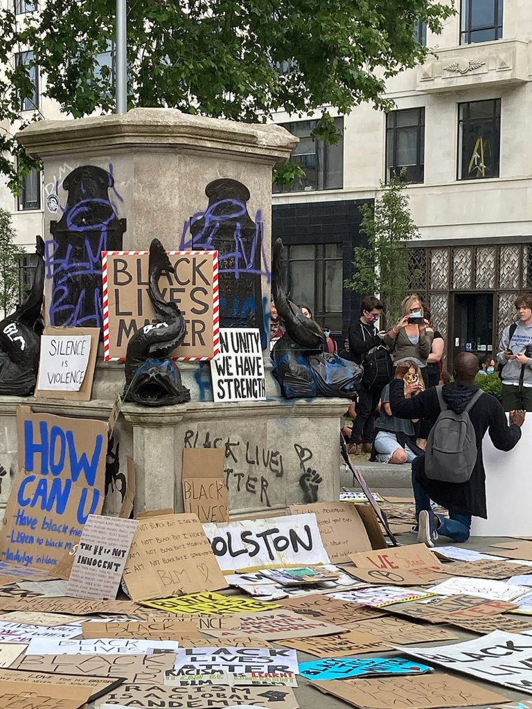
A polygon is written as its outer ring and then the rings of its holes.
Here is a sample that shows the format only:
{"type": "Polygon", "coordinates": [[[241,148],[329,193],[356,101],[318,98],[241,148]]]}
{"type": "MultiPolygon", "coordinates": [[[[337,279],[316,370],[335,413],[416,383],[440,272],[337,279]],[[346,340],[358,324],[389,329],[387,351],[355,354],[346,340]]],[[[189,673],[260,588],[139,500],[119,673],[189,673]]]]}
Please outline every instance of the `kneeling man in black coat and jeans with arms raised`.
{"type": "MultiPolygon", "coordinates": [[[[406,367],[406,365],[401,365],[406,367]]],[[[470,352],[460,352],[455,357],[453,375],[455,381],[443,386],[443,398],[448,407],[461,413],[479,387],[474,384],[478,372],[478,359],[470,352]]],[[[397,373],[399,375],[399,372],[397,373]]],[[[389,403],[394,416],[399,418],[428,418],[436,422],[440,414],[438,392],[435,386],[416,394],[419,384],[404,384],[395,379],[390,385],[389,403]]],[[[489,432],[493,445],[498,450],[511,450],[521,438],[524,411],[511,411],[510,423],[504,410],[494,396],[483,393],[469,412],[477,438],[477,462],[470,479],[465,483],[449,483],[431,480],[425,474],[425,456],[420,455],[412,463],[412,487],[416,501],[418,541],[433,547],[438,535],[450,537],[455,542],[466,542],[470,536],[471,518],[487,519],[486,474],[482,459],[482,439],[489,432]],[[431,499],[449,511],[449,518],[433,513],[431,499]]]]}

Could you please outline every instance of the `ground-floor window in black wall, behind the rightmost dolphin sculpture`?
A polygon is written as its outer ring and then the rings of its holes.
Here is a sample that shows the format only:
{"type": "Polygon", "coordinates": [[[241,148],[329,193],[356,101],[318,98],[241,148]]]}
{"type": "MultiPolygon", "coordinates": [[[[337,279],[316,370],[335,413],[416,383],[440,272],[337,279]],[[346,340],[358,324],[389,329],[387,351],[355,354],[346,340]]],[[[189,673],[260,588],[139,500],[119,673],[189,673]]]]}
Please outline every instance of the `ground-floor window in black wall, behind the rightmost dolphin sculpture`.
{"type": "Polygon", "coordinates": [[[342,244],[296,244],[284,248],[284,281],[294,303],[309,306],[320,325],[342,331],[342,244]]]}

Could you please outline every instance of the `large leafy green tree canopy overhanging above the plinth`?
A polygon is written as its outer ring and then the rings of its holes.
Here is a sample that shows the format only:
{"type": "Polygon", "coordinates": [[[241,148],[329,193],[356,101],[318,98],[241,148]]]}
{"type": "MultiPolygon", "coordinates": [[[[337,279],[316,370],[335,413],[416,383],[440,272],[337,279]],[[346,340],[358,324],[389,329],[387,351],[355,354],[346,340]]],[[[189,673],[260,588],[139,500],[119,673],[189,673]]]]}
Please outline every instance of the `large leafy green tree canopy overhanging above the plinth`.
{"type": "MultiPolygon", "coordinates": [[[[319,111],[316,137],[334,140],[333,120],[321,106],[340,114],[362,101],[389,108],[382,95],[386,79],[423,61],[428,51],[414,37],[414,23],[426,21],[439,33],[453,6],[453,0],[131,0],[128,105],[264,122],[275,111],[319,111]]],[[[0,11],[0,64],[6,67],[0,121],[21,121],[35,66],[47,77],[45,95],[65,113],[112,111],[114,33],[110,0],[48,0],[18,22],[6,3],[0,11]],[[21,47],[33,55],[13,62],[21,47]]],[[[38,117],[36,110],[32,120],[38,117]]],[[[18,154],[21,170],[28,169],[10,133],[0,134],[2,152],[18,154]]],[[[16,185],[16,168],[6,158],[0,172],[16,185]]]]}

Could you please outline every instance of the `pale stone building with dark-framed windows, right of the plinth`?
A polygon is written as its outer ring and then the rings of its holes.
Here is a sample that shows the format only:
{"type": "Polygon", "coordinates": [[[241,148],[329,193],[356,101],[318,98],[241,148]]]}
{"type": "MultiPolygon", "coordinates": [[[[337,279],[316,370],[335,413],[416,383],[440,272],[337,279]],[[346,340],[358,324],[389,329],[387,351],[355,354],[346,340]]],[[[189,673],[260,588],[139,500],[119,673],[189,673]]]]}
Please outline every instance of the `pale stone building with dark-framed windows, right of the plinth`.
{"type": "Polygon", "coordinates": [[[350,250],[363,242],[357,219],[346,223],[344,214],[404,170],[421,233],[409,289],[430,306],[451,359],[497,350],[516,294],[532,289],[532,2],[456,0],[456,9],[440,35],[416,28],[433,54],[387,83],[396,110],[362,105],[337,119],[341,151],[313,145],[310,121],[276,116],[301,137],[294,156],[308,179],[275,194],[273,207],[294,300],[314,305],[340,335],[358,317],[358,298],[344,290],[340,306],[332,284],[350,272],[350,250]],[[324,284],[318,261],[314,279],[309,266],[292,263],[294,252],[311,255],[318,233],[328,252],[343,252],[324,284]],[[332,311],[323,308],[327,288],[332,311]]]}

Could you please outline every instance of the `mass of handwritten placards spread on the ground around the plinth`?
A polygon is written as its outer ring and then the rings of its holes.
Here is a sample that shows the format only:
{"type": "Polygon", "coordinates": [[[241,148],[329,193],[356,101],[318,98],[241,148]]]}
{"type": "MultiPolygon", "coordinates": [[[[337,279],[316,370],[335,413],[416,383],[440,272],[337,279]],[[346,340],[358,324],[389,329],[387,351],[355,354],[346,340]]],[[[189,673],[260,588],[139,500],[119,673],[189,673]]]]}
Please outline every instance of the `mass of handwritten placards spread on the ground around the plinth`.
{"type": "Polygon", "coordinates": [[[130,470],[104,515],[112,425],[19,410],[1,709],[297,709],[309,683],[362,709],[532,695],[531,542],[387,547],[354,499],[228,521],[214,450],[184,452],[186,513],[131,519],[130,470]]]}

